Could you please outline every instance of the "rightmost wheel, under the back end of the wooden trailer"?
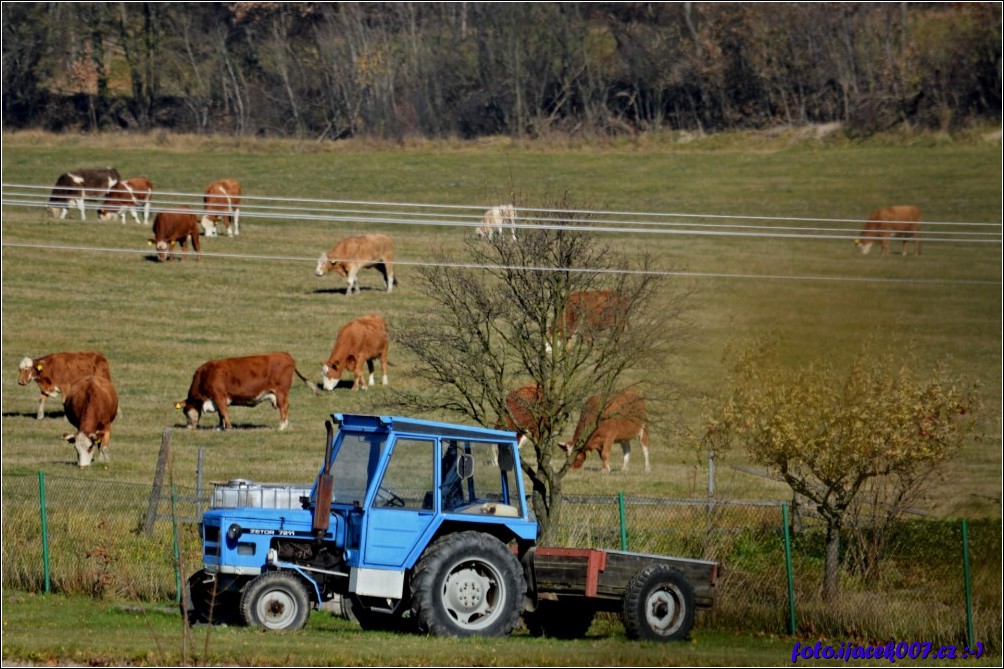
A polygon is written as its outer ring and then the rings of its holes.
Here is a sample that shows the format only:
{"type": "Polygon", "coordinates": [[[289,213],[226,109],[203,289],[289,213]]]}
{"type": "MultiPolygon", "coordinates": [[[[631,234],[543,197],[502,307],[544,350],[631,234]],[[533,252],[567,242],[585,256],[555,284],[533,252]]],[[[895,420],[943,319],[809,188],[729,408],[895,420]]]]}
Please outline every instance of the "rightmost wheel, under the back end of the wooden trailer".
{"type": "Polygon", "coordinates": [[[694,589],[680,571],[650,565],[624,593],[621,620],[631,639],[677,641],[694,627],[694,589]]]}

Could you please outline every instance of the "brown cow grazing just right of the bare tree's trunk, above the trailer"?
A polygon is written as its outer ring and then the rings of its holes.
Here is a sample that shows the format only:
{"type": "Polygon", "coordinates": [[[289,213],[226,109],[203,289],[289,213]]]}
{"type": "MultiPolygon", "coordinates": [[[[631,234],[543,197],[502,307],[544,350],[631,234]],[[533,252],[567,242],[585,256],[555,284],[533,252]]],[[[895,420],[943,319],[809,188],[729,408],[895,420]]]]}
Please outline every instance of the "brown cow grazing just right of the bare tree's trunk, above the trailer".
{"type": "Polygon", "coordinates": [[[602,418],[597,422],[599,415],[600,398],[593,395],[585,401],[582,413],[579,414],[578,424],[575,426],[575,436],[570,443],[561,444],[561,448],[569,455],[572,448],[581,446],[581,450],[575,455],[575,460],[571,466],[578,469],[585,462],[585,456],[589,451],[599,451],[599,457],[603,462],[603,471],[610,470],[610,450],[614,443],[620,444],[624,452],[623,465],[621,471],[628,470],[628,462],[631,460],[631,442],[638,437],[642,441],[642,452],[645,453],[645,470],[649,471],[649,433],[646,430],[648,416],[645,410],[645,400],[634,389],[619,393],[608,399],[602,411],[602,418]],[[583,441],[584,440],[584,441],[583,441]]]}

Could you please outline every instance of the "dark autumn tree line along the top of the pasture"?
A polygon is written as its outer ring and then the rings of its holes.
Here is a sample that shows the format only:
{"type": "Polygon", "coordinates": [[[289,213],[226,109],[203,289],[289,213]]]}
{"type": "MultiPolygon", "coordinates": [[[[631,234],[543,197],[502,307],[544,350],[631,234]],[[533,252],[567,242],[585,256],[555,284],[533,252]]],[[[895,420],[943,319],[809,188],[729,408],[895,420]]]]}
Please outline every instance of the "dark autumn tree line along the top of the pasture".
{"type": "Polygon", "coordinates": [[[5,130],[462,138],[1001,118],[1000,3],[3,4],[5,130]]]}

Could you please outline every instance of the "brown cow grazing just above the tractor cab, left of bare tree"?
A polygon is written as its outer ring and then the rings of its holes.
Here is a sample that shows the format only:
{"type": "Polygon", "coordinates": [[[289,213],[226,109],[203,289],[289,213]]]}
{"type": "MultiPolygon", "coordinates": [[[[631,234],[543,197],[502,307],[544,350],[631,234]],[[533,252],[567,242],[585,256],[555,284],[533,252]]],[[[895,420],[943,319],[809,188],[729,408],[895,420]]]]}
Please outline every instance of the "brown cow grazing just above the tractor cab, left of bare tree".
{"type": "Polygon", "coordinates": [[[338,386],[342,372],[351,372],[354,381],[352,390],[366,389],[362,376],[362,364],[369,370],[369,386],[373,384],[373,361],[380,358],[380,369],[384,373],[387,386],[387,355],[391,347],[387,333],[387,321],[375,313],[350,320],[338,331],[331,349],[331,355],[321,364],[321,381],[324,390],[334,390],[338,386]]]}

